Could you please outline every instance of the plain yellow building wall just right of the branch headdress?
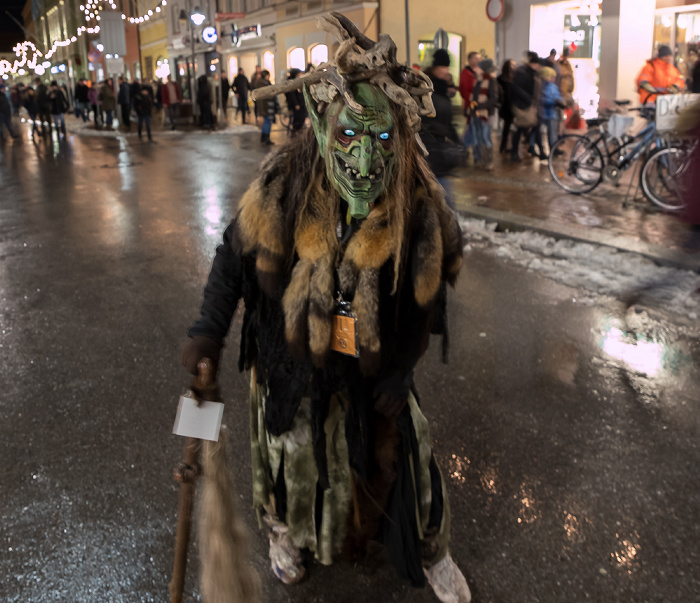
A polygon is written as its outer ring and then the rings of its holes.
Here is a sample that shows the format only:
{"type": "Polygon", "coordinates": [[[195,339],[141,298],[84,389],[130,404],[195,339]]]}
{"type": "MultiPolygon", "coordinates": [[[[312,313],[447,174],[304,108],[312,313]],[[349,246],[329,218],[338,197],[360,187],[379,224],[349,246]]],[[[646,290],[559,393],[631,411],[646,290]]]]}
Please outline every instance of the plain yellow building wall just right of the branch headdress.
{"type": "MultiPolygon", "coordinates": [[[[406,60],[405,5],[405,0],[380,2],[381,31],[396,42],[397,56],[402,62],[406,60]]],[[[485,51],[493,58],[496,28],[486,16],[486,0],[409,0],[408,7],[411,64],[418,62],[418,40],[432,40],[440,27],[448,33],[462,36],[460,68],[466,64],[466,56],[472,50],[485,51]]]]}

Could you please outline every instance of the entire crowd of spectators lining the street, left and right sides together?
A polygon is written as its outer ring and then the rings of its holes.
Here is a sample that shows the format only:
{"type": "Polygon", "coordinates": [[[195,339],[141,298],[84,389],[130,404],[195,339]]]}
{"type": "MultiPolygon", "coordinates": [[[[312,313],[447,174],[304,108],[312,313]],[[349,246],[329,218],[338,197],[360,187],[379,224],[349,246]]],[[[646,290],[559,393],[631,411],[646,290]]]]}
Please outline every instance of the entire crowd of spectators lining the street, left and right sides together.
{"type": "MultiPolygon", "coordinates": [[[[479,52],[470,52],[459,82],[455,82],[449,69],[449,53],[443,49],[435,51],[432,65],[425,73],[433,83],[436,116],[423,119],[421,136],[430,151],[431,167],[448,193],[449,181],[446,176],[453,167],[464,163],[469,153],[473,156],[475,167],[493,169],[494,139],[498,140],[498,151],[512,162],[522,161],[525,149],[537,159],[548,159],[549,149],[562,135],[567,122],[571,125],[578,118],[573,97],[574,68],[569,54],[569,48],[564,48],[559,56],[555,49],[547,57],[528,52],[520,65],[513,59],[507,59],[498,73],[492,59],[482,57],[479,52]],[[461,95],[465,119],[462,135],[455,128],[453,114],[452,99],[457,92],[461,95]]],[[[656,56],[647,61],[637,78],[640,102],[654,102],[660,90],[700,90],[700,62],[697,56],[691,54],[680,67],[682,73],[674,65],[671,49],[660,46],[656,56]]],[[[301,70],[290,69],[288,79],[300,75],[303,75],[301,70]]],[[[272,124],[282,112],[277,97],[258,99],[256,102],[250,99],[251,91],[270,85],[270,72],[261,69],[260,65],[256,66],[250,79],[240,68],[232,82],[225,73],[222,75],[219,99],[210,79],[206,75],[200,76],[194,98],[198,125],[213,130],[216,127],[213,108],[218,109],[221,102],[224,115],[227,115],[231,105],[235,108],[234,121],[240,119],[242,124],[248,123],[249,114],[254,113],[256,125],[261,126],[261,144],[273,145],[270,139],[272,124]],[[230,98],[232,102],[229,102],[230,98]]],[[[128,82],[119,77],[116,85],[111,78],[100,82],[80,79],[72,95],[65,84],[59,86],[54,81],[47,86],[37,78],[34,87],[20,84],[9,92],[3,90],[0,96],[3,97],[0,99],[0,134],[3,137],[5,130],[10,136],[15,136],[11,115],[23,106],[30,120],[38,121],[40,126],[33,123],[32,136],[37,132],[41,135],[48,131],[50,134],[52,124],[59,135],[65,135],[64,115],[73,110],[75,116],[84,122],[92,119],[96,128],[114,127],[117,117],[119,127],[128,131],[132,116],[135,116],[139,138],[145,128],[151,140],[152,114],[162,111],[163,125],[167,123],[174,130],[183,100],[183,92],[170,76],[165,81],[157,82],[137,78],[128,82]]],[[[289,133],[295,136],[308,124],[304,96],[298,90],[285,96],[285,119],[288,120],[285,125],[289,133]]]]}

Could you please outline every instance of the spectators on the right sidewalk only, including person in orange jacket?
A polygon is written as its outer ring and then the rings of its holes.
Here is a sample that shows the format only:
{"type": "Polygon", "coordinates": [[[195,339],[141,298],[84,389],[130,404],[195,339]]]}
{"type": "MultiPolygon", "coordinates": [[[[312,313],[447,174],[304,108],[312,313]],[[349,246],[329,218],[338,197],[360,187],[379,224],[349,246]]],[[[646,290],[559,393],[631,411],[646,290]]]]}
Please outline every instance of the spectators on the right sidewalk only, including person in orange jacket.
{"type": "MultiPolygon", "coordinates": [[[[640,103],[653,103],[661,93],[700,90],[700,67],[697,57],[691,65],[692,60],[684,65],[684,77],[674,65],[672,50],[659,46],[636,80],[640,103]]],[[[436,116],[423,118],[421,131],[430,165],[448,196],[446,176],[465,163],[470,152],[475,167],[493,169],[494,138],[500,138],[499,152],[511,162],[522,161],[521,146],[534,158],[546,161],[564,130],[581,125],[569,48],[559,56],[555,49],[547,57],[528,52],[520,65],[507,59],[498,75],[491,59],[470,52],[459,83],[454,82],[449,67],[449,53],[436,50],[432,65],[425,70],[433,83],[436,116]],[[451,101],[458,91],[465,118],[462,136],[455,128],[451,101]],[[494,136],[499,130],[500,136],[494,136]]]]}

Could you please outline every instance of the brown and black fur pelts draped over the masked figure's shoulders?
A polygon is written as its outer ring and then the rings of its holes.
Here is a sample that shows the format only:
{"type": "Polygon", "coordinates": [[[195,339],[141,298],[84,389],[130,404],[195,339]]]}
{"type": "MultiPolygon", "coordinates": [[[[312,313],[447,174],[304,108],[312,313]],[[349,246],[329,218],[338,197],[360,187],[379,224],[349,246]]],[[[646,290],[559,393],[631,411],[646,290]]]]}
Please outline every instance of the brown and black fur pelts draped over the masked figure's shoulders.
{"type": "Polygon", "coordinates": [[[398,282],[411,278],[422,308],[435,300],[443,279],[454,284],[461,267],[459,225],[398,109],[394,120],[391,180],[345,250],[336,235],[338,194],[310,128],[265,162],[239,205],[242,251],[256,253],[261,289],[282,296],[290,351],[310,355],[317,366],[330,347],[336,268],[357,313],[361,370],[367,374],[381,353],[381,267],[393,263],[394,293],[398,282]],[[409,260],[410,275],[404,274],[409,260]]]}

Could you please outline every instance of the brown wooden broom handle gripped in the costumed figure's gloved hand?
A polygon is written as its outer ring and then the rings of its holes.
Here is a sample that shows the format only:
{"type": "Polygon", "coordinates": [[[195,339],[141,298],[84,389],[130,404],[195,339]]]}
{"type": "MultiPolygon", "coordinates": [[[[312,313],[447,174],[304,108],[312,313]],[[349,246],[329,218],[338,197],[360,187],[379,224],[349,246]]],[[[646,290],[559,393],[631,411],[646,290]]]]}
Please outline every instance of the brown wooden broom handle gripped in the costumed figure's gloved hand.
{"type": "MultiPolygon", "coordinates": [[[[216,387],[212,378],[212,363],[203,358],[197,365],[198,374],[192,383],[196,392],[211,391],[216,387]]],[[[170,580],[170,599],[172,603],[182,603],[182,593],[185,586],[187,571],[187,549],[192,530],[192,509],[194,508],[194,482],[202,472],[199,456],[202,441],[197,438],[187,438],[185,442],[185,460],[175,467],[174,477],[180,482],[180,502],[177,511],[177,532],[175,536],[175,560],[173,561],[173,576],[170,580]]]]}

